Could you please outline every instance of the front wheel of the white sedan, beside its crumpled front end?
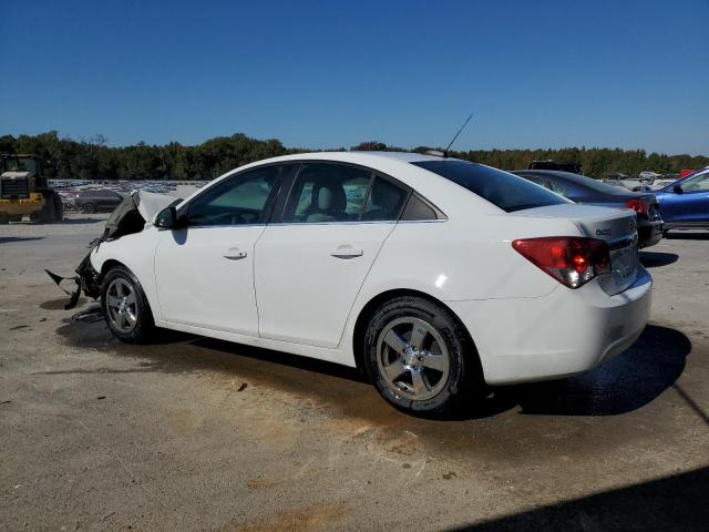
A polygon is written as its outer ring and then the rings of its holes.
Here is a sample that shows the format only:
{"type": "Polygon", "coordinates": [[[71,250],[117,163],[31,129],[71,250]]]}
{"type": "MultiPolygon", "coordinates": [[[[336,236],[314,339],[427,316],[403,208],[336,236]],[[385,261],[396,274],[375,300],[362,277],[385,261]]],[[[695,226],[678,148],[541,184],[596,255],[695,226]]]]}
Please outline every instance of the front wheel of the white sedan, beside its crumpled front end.
{"type": "Polygon", "coordinates": [[[145,293],[133,273],[117,266],[101,285],[101,306],[113,336],[127,344],[142,344],[154,331],[153,314],[145,293]]]}

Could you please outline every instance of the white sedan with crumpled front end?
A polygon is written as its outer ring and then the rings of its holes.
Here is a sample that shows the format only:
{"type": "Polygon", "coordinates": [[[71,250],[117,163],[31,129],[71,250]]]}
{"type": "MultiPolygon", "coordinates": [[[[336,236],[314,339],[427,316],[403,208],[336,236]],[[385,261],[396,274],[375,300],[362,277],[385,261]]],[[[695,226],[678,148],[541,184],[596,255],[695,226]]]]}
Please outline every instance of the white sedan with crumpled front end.
{"type": "Polygon", "coordinates": [[[156,216],[130,207],[84,268],[117,338],[164,327],[358,367],[403,409],[587,371],[648,319],[635,213],[481,164],[297,154],[156,216]]]}

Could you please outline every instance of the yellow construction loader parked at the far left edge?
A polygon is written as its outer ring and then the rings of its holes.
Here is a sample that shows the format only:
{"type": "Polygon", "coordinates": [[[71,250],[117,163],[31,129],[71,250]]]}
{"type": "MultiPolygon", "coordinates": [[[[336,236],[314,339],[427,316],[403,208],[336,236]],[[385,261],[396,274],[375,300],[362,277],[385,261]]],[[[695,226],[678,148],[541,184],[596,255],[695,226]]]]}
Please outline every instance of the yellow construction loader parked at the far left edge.
{"type": "Polygon", "coordinates": [[[0,155],[0,224],[20,222],[22,216],[42,224],[61,222],[61,196],[49,187],[42,158],[37,155],[0,155]]]}

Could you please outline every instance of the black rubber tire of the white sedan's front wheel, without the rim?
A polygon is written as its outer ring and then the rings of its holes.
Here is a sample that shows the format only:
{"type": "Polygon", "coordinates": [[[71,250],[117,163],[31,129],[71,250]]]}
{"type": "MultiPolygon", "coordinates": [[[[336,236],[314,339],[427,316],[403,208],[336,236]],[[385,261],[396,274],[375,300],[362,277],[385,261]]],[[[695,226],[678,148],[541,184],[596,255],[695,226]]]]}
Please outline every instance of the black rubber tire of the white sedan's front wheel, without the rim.
{"type": "MultiPolygon", "coordinates": [[[[112,291],[112,294],[114,293],[112,291]]],[[[133,275],[133,272],[126,267],[116,266],[111,268],[103,278],[101,284],[101,308],[105,315],[109,329],[111,329],[113,336],[119,340],[126,344],[144,344],[154,336],[155,321],[153,320],[153,313],[143,291],[143,287],[135,275],[133,275]],[[130,304],[130,306],[125,306],[125,311],[132,314],[135,318],[135,323],[130,329],[121,327],[121,320],[116,319],[120,310],[113,305],[115,299],[112,299],[114,296],[110,294],[110,290],[117,288],[116,285],[121,287],[127,285],[135,296],[134,305],[130,304]],[[111,308],[109,308],[110,299],[111,308]]],[[[127,320],[129,317],[125,319],[127,320]]]]}

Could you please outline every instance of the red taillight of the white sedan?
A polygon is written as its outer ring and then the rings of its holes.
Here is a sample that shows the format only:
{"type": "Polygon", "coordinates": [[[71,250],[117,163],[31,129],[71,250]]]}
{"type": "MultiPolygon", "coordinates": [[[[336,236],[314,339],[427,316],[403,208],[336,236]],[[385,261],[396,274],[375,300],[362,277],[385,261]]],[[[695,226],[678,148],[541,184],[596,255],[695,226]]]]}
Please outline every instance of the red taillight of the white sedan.
{"type": "Polygon", "coordinates": [[[610,273],[608,245],[596,238],[545,236],[512,243],[517,253],[569,288],[610,273]]]}

